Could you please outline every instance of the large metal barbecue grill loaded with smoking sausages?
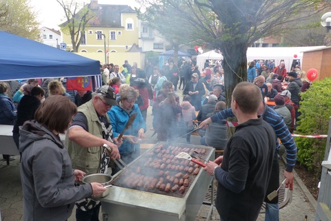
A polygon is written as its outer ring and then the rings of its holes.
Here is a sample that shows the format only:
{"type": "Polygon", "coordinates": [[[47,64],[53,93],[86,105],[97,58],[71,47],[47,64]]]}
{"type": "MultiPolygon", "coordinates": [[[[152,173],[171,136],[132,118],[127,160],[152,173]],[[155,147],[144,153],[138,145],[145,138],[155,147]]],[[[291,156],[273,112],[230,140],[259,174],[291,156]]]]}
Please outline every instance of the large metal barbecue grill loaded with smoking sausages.
{"type": "MultiPolygon", "coordinates": [[[[103,221],[194,220],[205,199],[212,177],[199,165],[196,166],[193,162],[185,159],[174,158],[181,151],[190,155],[195,151],[197,160],[201,162],[214,160],[214,148],[212,147],[181,143],[157,143],[114,176],[110,193],[105,198],[99,199],[102,201],[103,221]],[[168,159],[170,159],[171,165],[176,165],[176,167],[172,167],[174,169],[160,169],[155,166],[159,160],[163,164],[168,159]],[[200,170],[194,175],[177,167],[179,165],[190,165],[190,167],[200,168],[200,170]],[[188,176],[189,182],[185,191],[180,193],[177,189],[173,192],[166,192],[157,188],[151,189],[132,185],[130,177],[136,176],[136,178],[142,179],[139,174],[145,177],[144,173],[150,179],[159,179],[158,174],[161,170],[169,171],[169,176],[176,176],[178,173],[188,176]]],[[[166,180],[165,176],[163,178],[166,180]]]]}

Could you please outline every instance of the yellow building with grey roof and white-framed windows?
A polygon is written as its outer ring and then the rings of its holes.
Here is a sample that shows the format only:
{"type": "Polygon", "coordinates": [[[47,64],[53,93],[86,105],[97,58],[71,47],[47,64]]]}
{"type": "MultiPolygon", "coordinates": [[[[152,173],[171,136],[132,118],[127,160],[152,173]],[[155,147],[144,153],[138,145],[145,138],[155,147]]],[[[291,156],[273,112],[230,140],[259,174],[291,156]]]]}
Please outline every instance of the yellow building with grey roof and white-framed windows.
{"type": "MultiPolygon", "coordinates": [[[[109,60],[108,53],[127,52],[132,45],[138,45],[138,18],[130,6],[99,4],[98,1],[92,0],[90,10],[94,17],[86,25],[79,52],[87,54],[97,52],[103,54],[102,57],[104,57],[106,43],[106,55],[109,60]]],[[[72,51],[70,35],[62,32],[62,36],[63,42],[67,44],[67,50],[72,51]]],[[[104,59],[101,62],[103,63],[104,59]]]]}

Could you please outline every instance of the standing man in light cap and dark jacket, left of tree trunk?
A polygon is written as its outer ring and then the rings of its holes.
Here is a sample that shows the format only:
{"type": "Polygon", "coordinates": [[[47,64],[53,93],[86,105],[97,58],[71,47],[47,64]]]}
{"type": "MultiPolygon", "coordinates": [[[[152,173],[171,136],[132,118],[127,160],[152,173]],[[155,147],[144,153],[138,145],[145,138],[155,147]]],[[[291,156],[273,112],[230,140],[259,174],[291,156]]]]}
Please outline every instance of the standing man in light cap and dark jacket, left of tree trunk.
{"type": "Polygon", "coordinates": [[[201,109],[202,96],[205,94],[205,88],[203,84],[198,81],[199,75],[197,73],[192,74],[191,81],[189,81],[184,88],[183,94],[190,95],[191,105],[194,106],[195,110],[199,112],[201,109]]]}

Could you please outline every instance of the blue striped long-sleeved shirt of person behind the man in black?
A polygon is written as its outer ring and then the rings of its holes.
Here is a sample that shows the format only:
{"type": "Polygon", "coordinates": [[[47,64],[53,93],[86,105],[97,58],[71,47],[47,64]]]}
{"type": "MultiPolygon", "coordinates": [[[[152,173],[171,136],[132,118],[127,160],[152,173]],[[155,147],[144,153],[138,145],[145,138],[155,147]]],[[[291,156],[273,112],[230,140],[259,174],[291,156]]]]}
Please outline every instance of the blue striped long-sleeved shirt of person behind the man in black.
{"type": "MultiPolygon", "coordinates": [[[[286,149],[285,171],[292,173],[295,162],[297,162],[297,145],[295,145],[294,139],[292,138],[288,127],[286,127],[284,123],[283,117],[279,116],[279,114],[274,112],[274,109],[268,107],[267,105],[265,105],[265,109],[262,116],[263,120],[265,120],[265,122],[267,122],[274,129],[277,138],[279,138],[279,140],[281,140],[281,143],[284,145],[286,149]]],[[[210,119],[212,120],[212,122],[215,122],[217,120],[223,120],[230,117],[234,117],[231,108],[225,109],[221,112],[218,112],[217,114],[214,114],[214,116],[211,116],[210,119]]],[[[281,145],[279,144],[277,139],[277,151],[280,147],[281,145]]]]}

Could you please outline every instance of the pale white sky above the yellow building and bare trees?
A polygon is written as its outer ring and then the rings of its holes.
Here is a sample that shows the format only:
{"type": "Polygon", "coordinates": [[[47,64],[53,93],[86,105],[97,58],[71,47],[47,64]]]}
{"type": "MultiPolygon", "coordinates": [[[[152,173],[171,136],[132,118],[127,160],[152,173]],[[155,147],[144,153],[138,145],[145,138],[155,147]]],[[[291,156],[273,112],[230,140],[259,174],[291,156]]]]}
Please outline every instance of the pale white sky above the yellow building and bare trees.
{"type": "MultiPolygon", "coordinates": [[[[90,3],[90,0],[74,0],[79,3],[90,3]]],[[[99,4],[112,4],[112,5],[128,5],[134,8],[139,5],[134,0],[99,0],[99,4]]],[[[38,14],[38,20],[41,26],[46,28],[54,28],[60,30],[59,24],[65,21],[63,8],[56,0],[30,0],[30,4],[34,11],[38,14]]]]}

